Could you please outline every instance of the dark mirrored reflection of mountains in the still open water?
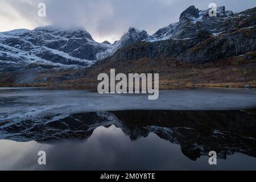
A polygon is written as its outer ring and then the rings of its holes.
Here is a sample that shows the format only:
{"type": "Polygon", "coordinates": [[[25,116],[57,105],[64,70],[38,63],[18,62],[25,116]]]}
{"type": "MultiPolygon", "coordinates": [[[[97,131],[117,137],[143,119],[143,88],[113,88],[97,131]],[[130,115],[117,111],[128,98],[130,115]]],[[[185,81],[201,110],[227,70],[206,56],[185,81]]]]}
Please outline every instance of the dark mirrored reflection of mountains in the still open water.
{"type": "MultiPolygon", "coordinates": [[[[52,154],[56,155],[54,157],[56,159],[52,159],[52,161],[55,161],[58,159],[58,152],[67,155],[71,150],[79,151],[81,145],[90,146],[88,143],[92,142],[92,140],[104,136],[100,139],[102,140],[101,142],[97,141],[93,144],[93,147],[86,148],[85,151],[81,151],[81,154],[76,154],[76,156],[78,155],[83,158],[82,156],[85,154],[85,158],[90,159],[89,156],[86,156],[86,151],[93,150],[88,155],[94,155],[92,159],[95,159],[97,155],[99,155],[97,156],[99,159],[101,159],[101,155],[104,156],[104,159],[101,160],[109,162],[109,166],[108,163],[95,160],[94,163],[96,164],[93,164],[92,161],[86,161],[88,163],[86,167],[78,165],[75,167],[76,169],[111,169],[114,166],[112,166],[113,164],[109,160],[113,159],[115,161],[118,155],[124,155],[128,158],[141,158],[141,156],[145,155],[143,160],[154,160],[152,158],[176,158],[172,154],[174,151],[180,154],[182,152],[183,156],[186,156],[191,162],[200,160],[202,159],[201,156],[203,156],[203,158],[206,158],[204,162],[207,165],[208,153],[212,150],[217,152],[218,159],[227,159],[228,155],[234,155],[235,153],[236,155],[234,156],[242,154],[247,155],[248,158],[251,156],[253,158],[249,160],[249,163],[247,162],[247,164],[251,163],[251,166],[246,167],[256,169],[256,114],[253,113],[255,113],[254,110],[99,111],[96,113],[55,115],[53,117],[24,120],[18,123],[6,121],[2,122],[0,126],[0,139],[5,139],[1,140],[0,146],[8,150],[3,144],[3,142],[6,143],[6,140],[28,143],[30,141],[36,141],[41,147],[55,146],[53,147],[55,150],[52,151],[52,154]],[[110,128],[105,129],[105,127],[110,128]],[[102,134],[99,131],[104,132],[102,134]],[[106,133],[108,133],[107,137],[105,136],[106,133]],[[78,146],[72,146],[72,142],[82,143],[78,146]],[[66,149],[63,148],[63,143],[68,143],[65,146],[66,149]],[[139,149],[135,147],[138,143],[140,143],[139,149]],[[70,147],[67,148],[67,145],[70,145],[70,147]],[[166,148],[168,145],[172,148],[170,156],[168,156],[169,154],[167,152],[168,147],[166,148]],[[112,149],[110,150],[109,148],[112,149]],[[153,150],[152,148],[155,149],[153,150]],[[174,150],[174,148],[176,149],[174,150]],[[158,150],[162,151],[162,156],[154,157],[152,154],[158,150]],[[97,163],[104,164],[102,164],[102,167],[98,167],[97,163]]],[[[63,157],[63,155],[60,155],[59,158],[61,156],[63,157]]],[[[35,154],[36,157],[37,155],[35,154]]],[[[53,155],[51,158],[53,158],[53,155]]],[[[180,156],[180,158],[183,157],[180,156]]],[[[240,157],[241,159],[243,158],[240,157]]],[[[1,160],[3,158],[0,156],[1,160]]],[[[79,162],[79,159],[77,161],[79,162]]],[[[180,169],[186,169],[187,163],[180,169]]],[[[120,164],[118,163],[118,165],[120,164]]],[[[119,167],[120,169],[134,169],[133,167],[135,169],[177,169],[180,166],[179,163],[170,164],[176,165],[175,167],[165,165],[162,166],[159,163],[154,167],[135,167],[135,164],[133,166],[129,163],[128,166],[123,164],[123,166],[119,167]]],[[[67,166],[63,165],[63,167],[66,168],[67,166]]],[[[115,167],[114,169],[117,169],[115,167]]],[[[53,169],[56,168],[53,167],[53,169]]]]}

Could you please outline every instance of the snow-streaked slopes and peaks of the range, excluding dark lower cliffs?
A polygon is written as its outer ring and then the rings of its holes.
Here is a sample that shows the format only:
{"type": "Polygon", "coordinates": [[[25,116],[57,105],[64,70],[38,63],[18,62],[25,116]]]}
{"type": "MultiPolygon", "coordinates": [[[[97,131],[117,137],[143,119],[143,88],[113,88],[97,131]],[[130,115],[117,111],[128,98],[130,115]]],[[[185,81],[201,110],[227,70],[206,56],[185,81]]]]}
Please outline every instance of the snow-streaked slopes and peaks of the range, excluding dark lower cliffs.
{"type": "Polygon", "coordinates": [[[202,31],[211,31],[213,34],[224,31],[224,28],[218,25],[222,18],[233,15],[232,11],[225,11],[225,7],[218,7],[218,18],[209,18],[208,11],[199,11],[195,6],[191,6],[181,13],[178,23],[161,28],[153,35],[148,35],[144,30],[129,28],[129,31],[114,44],[97,43],[89,32],[80,27],[64,29],[46,26],[35,28],[35,30],[1,32],[1,72],[30,64],[64,68],[88,67],[96,60],[112,55],[117,49],[136,42],[188,39],[202,31]]]}

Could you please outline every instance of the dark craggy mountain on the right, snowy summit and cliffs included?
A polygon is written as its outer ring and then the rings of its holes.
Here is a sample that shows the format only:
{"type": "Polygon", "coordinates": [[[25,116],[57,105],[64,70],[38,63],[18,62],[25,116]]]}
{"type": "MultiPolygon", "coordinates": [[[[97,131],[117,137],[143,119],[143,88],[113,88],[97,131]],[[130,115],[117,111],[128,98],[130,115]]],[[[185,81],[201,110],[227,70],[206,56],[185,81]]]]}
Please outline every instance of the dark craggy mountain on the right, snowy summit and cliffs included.
{"type": "Polygon", "coordinates": [[[218,7],[217,17],[208,10],[189,7],[178,23],[149,36],[144,43],[122,48],[114,59],[168,57],[189,63],[210,63],[256,50],[256,8],[233,14],[218,7]]]}

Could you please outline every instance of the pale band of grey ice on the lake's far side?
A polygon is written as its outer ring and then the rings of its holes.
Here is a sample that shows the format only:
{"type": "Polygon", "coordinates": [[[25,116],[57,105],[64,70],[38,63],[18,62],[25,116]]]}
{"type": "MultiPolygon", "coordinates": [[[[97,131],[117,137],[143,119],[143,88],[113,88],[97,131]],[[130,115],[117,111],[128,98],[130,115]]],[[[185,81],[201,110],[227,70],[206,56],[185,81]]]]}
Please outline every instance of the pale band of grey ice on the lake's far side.
{"type": "Polygon", "coordinates": [[[256,107],[255,89],[160,90],[146,94],[98,94],[85,90],[1,88],[0,121],[114,110],[238,110],[256,107]]]}

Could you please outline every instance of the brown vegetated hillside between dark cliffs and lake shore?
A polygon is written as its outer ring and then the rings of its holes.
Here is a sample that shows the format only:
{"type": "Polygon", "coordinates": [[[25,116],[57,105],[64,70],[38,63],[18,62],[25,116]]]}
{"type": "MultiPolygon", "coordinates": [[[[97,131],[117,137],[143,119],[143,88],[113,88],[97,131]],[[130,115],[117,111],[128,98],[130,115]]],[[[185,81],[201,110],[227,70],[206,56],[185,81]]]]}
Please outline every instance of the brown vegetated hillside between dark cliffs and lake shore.
{"type": "MultiPolygon", "coordinates": [[[[172,89],[177,86],[220,86],[245,87],[256,86],[256,52],[241,56],[233,56],[216,63],[191,64],[185,61],[170,60],[164,57],[158,59],[143,58],[131,61],[107,59],[93,67],[84,70],[82,78],[52,82],[49,85],[71,86],[95,91],[97,76],[100,73],[159,73],[160,89],[172,89]]],[[[63,74],[63,73],[61,73],[63,74]]],[[[68,73],[65,73],[68,74],[68,73]]]]}

